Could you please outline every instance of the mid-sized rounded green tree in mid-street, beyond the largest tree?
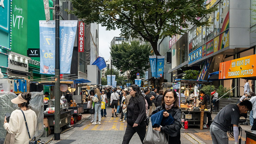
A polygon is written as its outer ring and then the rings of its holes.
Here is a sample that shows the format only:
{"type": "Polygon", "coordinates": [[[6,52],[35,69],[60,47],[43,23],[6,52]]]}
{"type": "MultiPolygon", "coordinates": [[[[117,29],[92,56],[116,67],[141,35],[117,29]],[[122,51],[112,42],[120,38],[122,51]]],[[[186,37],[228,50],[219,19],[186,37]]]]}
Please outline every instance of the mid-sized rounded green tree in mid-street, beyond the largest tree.
{"type": "Polygon", "coordinates": [[[138,41],[131,41],[129,43],[123,42],[120,45],[112,46],[111,57],[113,65],[121,71],[123,74],[126,71],[130,73],[130,81],[134,83],[136,79],[136,73],[140,73],[140,77],[143,77],[144,72],[147,71],[150,66],[148,65],[151,46],[148,44],[140,45],[138,41]]]}

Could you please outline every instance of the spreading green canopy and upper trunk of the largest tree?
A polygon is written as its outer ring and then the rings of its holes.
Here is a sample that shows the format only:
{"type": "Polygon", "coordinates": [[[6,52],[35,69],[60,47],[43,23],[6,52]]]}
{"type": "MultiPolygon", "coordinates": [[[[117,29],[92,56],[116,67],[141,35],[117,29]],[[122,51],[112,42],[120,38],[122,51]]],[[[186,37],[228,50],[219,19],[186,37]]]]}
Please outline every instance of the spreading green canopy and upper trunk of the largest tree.
{"type": "Polygon", "coordinates": [[[208,25],[198,17],[216,11],[217,6],[206,8],[205,0],[71,0],[74,9],[69,13],[87,24],[99,23],[106,30],[121,30],[125,38],[148,41],[154,53],[160,56],[157,42],[166,36],[183,35],[190,24],[208,25]]]}

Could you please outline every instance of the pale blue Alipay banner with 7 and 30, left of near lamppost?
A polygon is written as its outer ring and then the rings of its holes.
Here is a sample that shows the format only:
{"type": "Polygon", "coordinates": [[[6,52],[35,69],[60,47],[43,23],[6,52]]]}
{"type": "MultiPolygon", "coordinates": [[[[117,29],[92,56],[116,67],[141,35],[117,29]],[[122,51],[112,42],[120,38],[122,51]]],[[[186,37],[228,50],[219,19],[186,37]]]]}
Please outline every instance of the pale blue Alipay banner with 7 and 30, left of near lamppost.
{"type": "Polygon", "coordinates": [[[55,74],[55,20],[39,20],[40,73],[55,74]]]}

